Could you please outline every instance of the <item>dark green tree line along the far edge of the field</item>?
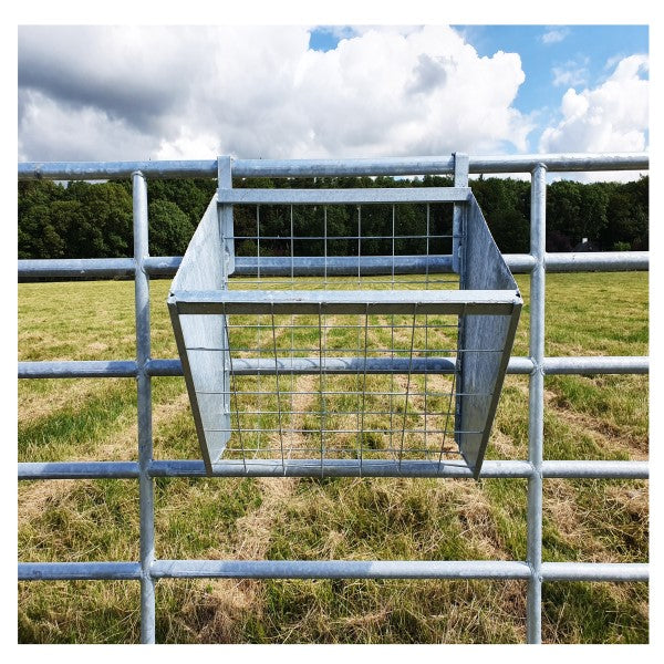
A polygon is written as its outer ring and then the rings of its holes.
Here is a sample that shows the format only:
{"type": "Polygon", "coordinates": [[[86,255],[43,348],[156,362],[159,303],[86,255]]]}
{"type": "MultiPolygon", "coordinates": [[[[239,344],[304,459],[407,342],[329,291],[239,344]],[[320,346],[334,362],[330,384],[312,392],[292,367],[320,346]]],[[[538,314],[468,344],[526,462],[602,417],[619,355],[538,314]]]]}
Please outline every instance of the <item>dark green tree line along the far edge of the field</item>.
{"type": "MultiPolygon", "coordinates": [[[[443,187],[452,179],[425,176],[237,179],[235,187],[443,187]]],[[[501,251],[529,250],[530,183],[479,177],[473,191],[501,251]]],[[[181,256],[215,194],[210,179],[148,180],[149,251],[181,256]]],[[[120,258],[132,256],[132,184],[116,180],[19,183],[19,258],[120,258]]],[[[448,253],[452,206],[317,207],[237,206],[236,252],[255,256],[364,256],[448,253]],[[433,236],[424,239],[427,230],[433,236]],[[290,238],[300,238],[290,245],[290,238]],[[357,236],[362,235],[361,246],[357,236]],[[392,239],[392,236],[395,239],[392,239]],[[321,239],[328,236],[325,242],[321,239]],[[370,237],[372,236],[372,237],[370,237]],[[332,239],[338,238],[338,239],[332,239]]],[[[649,178],[630,183],[559,180],[547,189],[547,250],[572,251],[587,238],[596,250],[647,250],[649,178]]]]}

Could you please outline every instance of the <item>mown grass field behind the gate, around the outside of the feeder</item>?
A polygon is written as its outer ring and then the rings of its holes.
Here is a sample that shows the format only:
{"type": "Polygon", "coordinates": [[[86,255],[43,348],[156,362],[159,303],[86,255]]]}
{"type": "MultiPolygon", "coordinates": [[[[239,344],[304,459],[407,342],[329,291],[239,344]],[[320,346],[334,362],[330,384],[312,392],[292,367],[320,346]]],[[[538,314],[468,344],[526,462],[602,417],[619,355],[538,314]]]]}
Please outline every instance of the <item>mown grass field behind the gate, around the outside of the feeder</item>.
{"type": "MultiPolygon", "coordinates": [[[[525,311],[513,354],[528,344],[525,311]]],[[[152,284],[154,357],[176,356],[166,294],[152,284]]],[[[19,287],[20,360],[135,356],[133,282],[19,287]]],[[[647,354],[647,274],[547,277],[548,355],[647,354]]],[[[184,380],[153,381],[156,458],[196,458],[184,380]]],[[[647,376],[549,376],[544,458],[647,458],[647,376]]],[[[489,458],[522,459],[528,380],[507,376],[489,458]]],[[[134,460],[132,380],[19,382],[19,460],[134,460]]],[[[526,557],[523,479],[189,479],[156,485],[158,558],[513,559],[526,557]]],[[[543,559],[647,560],[647,483],[544,481],[543,559]]],[[[19,486],[19,560],[137,560],[135,480],[19,486]]],[[[525,641],[521,581],[157,583],[166,643],[525,641]]],[[[547,583],[543,640],[643,643],[647,585],[547,583]]],[[[139,640],[137,582],[19,583],[19,641],[139,640]]]]}

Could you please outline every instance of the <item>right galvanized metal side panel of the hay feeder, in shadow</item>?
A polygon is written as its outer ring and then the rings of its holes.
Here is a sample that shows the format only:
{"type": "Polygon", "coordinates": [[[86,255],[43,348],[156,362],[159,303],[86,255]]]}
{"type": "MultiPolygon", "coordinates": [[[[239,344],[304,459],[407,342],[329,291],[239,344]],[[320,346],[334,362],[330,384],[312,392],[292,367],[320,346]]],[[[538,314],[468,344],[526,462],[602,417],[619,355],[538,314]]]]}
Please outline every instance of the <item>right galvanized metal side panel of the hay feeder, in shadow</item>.
{"type": "Polygon", "coordinates": [[[459,339],[460,372],[456,440],[478,477],[515,339],[522,300],[517,283],[473,198],[466,212],[464,286],[469,290],[511,291],[511,312],[465,315],[459,339]]]}

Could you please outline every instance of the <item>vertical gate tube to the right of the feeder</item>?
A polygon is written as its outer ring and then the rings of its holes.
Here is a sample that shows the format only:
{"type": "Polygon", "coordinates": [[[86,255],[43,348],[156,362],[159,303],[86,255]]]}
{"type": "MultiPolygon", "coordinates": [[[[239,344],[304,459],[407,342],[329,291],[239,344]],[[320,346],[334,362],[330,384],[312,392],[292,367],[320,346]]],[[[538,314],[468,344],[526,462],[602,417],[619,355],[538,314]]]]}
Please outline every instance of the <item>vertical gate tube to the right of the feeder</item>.
{"type": "Polygon", "coordinates": [[[544,432],[544,252],[547,237],[547,167],[532,172],[530,191],[530,253],[535,267],[530,274],[530,357],[533,370],[529,382],[528,459],[535,473],[528,479],[528,581],[526,632],[528,643],[542,639],[542,459],[544,432]]]}

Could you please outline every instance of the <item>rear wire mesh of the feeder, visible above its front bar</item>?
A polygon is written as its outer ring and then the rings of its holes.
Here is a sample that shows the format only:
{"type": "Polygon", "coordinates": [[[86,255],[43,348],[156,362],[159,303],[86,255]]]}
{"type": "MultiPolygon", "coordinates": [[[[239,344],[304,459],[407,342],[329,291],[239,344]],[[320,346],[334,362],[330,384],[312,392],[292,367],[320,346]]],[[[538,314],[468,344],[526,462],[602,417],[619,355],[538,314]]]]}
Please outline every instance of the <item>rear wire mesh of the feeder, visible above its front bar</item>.
{"type": "Polygon", "coordinates": [[[235,206],[229,288],[458,288],[452,206],[235,206]]]}

